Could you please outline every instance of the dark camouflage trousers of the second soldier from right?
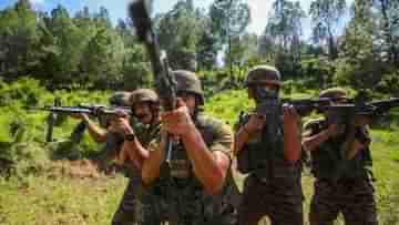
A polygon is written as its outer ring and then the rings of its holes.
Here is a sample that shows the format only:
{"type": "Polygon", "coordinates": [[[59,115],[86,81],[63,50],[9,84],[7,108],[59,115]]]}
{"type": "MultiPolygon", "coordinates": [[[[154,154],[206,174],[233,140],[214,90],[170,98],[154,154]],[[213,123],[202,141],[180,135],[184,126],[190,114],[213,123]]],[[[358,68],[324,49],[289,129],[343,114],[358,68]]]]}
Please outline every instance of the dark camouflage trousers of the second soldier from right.
{"type": "Polygon", "coordinates": [[[303,225],[303,193],[297,183],[272,180],[263,182],[255,175],[245,180],[238,225],[257,225],[268,216],[272,225],[303,225]]]}

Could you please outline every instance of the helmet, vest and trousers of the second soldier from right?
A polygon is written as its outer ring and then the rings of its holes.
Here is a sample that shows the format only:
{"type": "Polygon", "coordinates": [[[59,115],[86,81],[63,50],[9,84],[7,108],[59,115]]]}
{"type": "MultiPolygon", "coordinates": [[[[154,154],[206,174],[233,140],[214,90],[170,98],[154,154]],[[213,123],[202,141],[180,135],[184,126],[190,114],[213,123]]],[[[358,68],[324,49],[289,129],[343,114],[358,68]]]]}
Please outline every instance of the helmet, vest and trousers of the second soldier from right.
{"type": "MultiPolygon", "coordinates": [[[[279,72],[270,67],[256,67],[249,72],[246,82],[256,84],[265,80],[280,85],[279,72]]],[[[236,130],[248,120],[248,114],[242,115],[236,130]]],[[[269,135],[258,132],[249,137],[237,155],[238,170],[248,173],[238,208],[239,225],[255,225],[263,216],[268,216],[274,225],[303,224],[301,165],[299,161],[289,163],[285,160],[283,113],[276,122],[279,132],[272,135],[279,135],[278,139],[272,141],[269,135]]]]}

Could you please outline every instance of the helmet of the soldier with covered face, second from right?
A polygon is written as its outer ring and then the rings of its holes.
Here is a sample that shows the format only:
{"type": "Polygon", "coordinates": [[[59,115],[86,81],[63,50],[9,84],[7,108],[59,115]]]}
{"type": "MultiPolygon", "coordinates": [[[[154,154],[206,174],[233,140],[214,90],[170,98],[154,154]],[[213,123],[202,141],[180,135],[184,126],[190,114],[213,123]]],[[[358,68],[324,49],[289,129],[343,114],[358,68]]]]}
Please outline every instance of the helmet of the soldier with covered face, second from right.
{"type": "Polygon", "coordinates": [[[282,75],[276,68],[270,65],[256,65],[248,72],[244,85],[248,88],[254,84],[267,83],[279,88],[282,85],[280,81],[282,75]]]}

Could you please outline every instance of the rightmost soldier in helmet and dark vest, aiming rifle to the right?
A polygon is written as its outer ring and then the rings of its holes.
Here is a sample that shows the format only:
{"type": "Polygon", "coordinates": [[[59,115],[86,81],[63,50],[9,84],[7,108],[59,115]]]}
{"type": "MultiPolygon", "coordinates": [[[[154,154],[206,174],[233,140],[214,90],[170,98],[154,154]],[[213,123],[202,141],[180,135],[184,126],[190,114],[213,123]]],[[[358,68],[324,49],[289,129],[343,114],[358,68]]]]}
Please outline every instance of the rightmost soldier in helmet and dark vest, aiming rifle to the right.
{"type": "MultiPolygon", "coordinates": [[[[346,91],[332,88],[319,98],[332,98],[336,104],[345,103],[346,91]]],[[[339,124],[331,112],[313,120],[305,126],[303,146],[310,152],[311,172],[316,177],[315,194],[310,204],[310,225],[332,225],[338,213],[345,224],[378,224],[374,187],[370,182],[371,165],[370,120],[358,115],[354,124],[339,124]]]]}

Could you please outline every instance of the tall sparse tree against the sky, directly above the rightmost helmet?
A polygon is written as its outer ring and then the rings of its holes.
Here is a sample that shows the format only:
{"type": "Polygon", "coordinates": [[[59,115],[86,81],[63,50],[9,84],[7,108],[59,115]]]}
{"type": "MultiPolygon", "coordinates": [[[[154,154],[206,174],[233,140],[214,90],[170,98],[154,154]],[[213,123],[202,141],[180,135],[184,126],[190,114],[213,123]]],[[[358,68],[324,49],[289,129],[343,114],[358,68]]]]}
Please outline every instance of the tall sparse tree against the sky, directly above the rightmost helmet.
{"type": "Polygon", "coordinates": [[[345,13],[346,0],[314,0],[310,3],[313,40],[327,45],[330,60],[338,58],[337,35],[345,13]]]}

